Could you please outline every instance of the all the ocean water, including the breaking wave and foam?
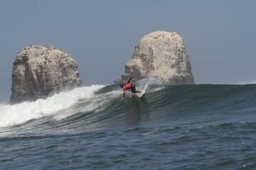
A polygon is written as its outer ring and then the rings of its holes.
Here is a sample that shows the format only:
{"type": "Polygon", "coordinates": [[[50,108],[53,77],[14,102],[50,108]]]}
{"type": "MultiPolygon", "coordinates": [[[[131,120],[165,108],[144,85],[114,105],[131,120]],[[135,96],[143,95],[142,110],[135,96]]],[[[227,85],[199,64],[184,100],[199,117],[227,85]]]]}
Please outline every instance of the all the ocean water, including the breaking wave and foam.
{"type": "Polygon", "coordinates": [[[85,86],[0,105],[0,169],[256,169],[256,85],[85,86]]]}

